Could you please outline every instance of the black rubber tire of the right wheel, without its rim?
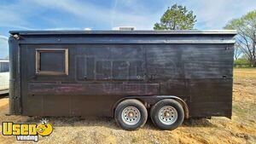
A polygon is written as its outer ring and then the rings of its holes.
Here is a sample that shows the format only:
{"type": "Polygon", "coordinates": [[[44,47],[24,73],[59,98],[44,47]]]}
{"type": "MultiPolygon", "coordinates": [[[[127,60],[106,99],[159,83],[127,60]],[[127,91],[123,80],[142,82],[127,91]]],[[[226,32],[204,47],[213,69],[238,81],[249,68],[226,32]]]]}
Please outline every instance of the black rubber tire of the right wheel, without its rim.
{"type": "MultiPolygon", "coordinates": [[[[174,130],[176,129],[180,124],[183,123],[184,119],[184,111],[181,104],[175,100],[172,99],[165,99],[162,101],[158,101],[156,104],[154,104],[153,107],[151,107],[150,110],[150,117],[152,122],[155,126],[160,128],[161,130],[174,130]],[[162,107],[171,106],[176,109],[177,112],[177,119],[173,120],[172,124],[164,124],[160,120],[159,112],[162,107]]],[[[174,118],[175,119],[175,118],[174,118]]]]}

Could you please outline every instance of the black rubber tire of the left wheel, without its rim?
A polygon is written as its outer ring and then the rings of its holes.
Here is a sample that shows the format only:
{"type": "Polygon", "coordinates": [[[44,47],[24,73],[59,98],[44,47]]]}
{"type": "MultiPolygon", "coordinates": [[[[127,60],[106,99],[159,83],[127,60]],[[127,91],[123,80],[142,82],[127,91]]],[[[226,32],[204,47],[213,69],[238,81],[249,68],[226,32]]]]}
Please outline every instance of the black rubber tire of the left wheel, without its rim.
{"type": "MultiPolygon", "coordinates": [[[[121,101],[119,105],[116,107],[114,111],[114,118],[117,124],[124,130],[137,130],[138,128],[143,127],[143,125],[147,122],[148,112],[146,107],[144,107],[141,101],[137,101],[135,99],[129,99],[125,101],[121,101]],[[122,112],[126,107],[136,107],[140,113],[140,118],[138,118],[137,124],[125,124],[125,121],[122,118],[122,112]]],[[[126,121],[127,123],[127,121],[126,121]]],[[[129,123],[129,122],[128,122],[129,123]]]]}

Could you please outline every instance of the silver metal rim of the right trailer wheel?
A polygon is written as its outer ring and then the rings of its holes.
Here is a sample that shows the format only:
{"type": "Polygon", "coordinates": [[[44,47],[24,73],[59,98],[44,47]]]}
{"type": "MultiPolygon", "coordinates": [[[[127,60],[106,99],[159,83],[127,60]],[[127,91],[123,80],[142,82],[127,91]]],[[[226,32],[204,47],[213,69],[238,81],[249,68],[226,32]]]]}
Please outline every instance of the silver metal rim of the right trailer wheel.
{"type": "Polygon", "coordinates": [[[162,124],[171,125],[177,120],[177,110],[172,106],[162,107],[159,111],[159,119],[162,124]]]}

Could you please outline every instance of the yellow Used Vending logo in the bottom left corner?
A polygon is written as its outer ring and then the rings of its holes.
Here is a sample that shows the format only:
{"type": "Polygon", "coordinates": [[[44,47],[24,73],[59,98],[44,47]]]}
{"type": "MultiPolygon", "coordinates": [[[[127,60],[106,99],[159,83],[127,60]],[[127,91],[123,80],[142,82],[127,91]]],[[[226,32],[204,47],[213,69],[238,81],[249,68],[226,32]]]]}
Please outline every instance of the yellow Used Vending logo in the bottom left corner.
{"type": "Polygon", "coordinates": [[[40,124],[15,124],[13,122],[2,123],[2,134],[15,135],[17,141],[38,142],[38,135],[48,136],[52,131],[52,125],[49,124],[46,119],[42,119],[40,124]]]}

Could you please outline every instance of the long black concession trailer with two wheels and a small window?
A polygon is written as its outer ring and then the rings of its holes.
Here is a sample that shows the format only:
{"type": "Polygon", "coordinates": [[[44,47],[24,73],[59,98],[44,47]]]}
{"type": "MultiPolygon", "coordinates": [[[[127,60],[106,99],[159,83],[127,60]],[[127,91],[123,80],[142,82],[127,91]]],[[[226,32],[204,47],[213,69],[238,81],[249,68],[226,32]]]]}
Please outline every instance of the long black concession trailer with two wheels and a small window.
{"type": "Polygon", "coordinates": [[[10,32],[9,113],[135,130],[232,114],[236,31],[10,32]]]}

